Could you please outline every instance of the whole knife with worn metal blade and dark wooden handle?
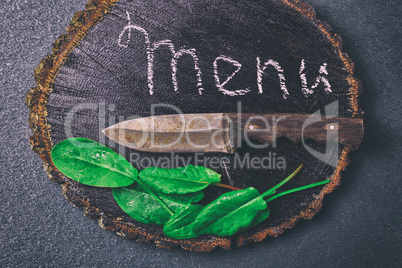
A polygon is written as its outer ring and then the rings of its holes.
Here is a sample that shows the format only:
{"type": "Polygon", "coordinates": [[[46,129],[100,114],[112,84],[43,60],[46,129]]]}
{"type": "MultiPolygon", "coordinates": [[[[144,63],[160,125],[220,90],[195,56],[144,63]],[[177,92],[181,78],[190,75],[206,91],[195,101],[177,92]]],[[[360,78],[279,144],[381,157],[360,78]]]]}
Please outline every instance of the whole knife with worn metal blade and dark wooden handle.
{"type": "Polygon", "coordinates": [[[172,114],[132,119],[103,133],[125,147],[146,152],[234,153],[242,142],[254,148],[279,137],[297,143],[335,141],[356,149],[363,138],[363,119],[319,114],[172,114]]]}

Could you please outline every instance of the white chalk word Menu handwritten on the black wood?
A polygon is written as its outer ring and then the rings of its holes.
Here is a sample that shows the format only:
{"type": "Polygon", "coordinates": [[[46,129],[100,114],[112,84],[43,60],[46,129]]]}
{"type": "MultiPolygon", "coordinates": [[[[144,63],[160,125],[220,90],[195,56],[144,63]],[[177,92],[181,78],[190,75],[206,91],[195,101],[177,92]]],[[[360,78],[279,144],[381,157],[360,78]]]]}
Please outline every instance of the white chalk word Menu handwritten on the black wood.
{"type": "MultiPolygon", "coordinates": [[[[199,95],[203,94],[204,88],[203,88],[203,81],[202,81],[202,71],[199,65],[199,58],[197,56],[197,51],[194,48],[181,48],[176,51],[175,45],[173,42],[169,39],[165,40],[160,40],[160,41],[155,41],[151,44],[150,41],[150,36],[148,32],[141,26],[135,25],[131,21],[131,17],[129,12],[126,11],[127,15],[127,25],[123,28],[121,33],[119,34],[118,37],[118,42],[117,44],[120,47],[123,48],[128,48],[129,44],[131,42],[131,37],[132,37],[132,31],[138,31],[139,33],[142,33],[144,36],[144,42],[146,46],[146,54],[147,54],[147,84],[148,84],[148,89],[149,89],[149,94],[153,95],[154,94],[154,62],[155,62],[155,51],[159,49],[162,46],[166,46],[170,53],[172,54],[172,59],[170,62],[170,69],[171,69],[171,78],[172,78],[172,83],[173,83],[173,89],[175,92],[179,91],[179,83],[177,81],[177,73],[178,73],[178,64],[180,58],[183,56],[190,56],[193,63],[194,63],[194,70],[196,71],[196,80],[197,80],[197,89],[199,95]],[[125,41],[124,41],[125,39],[125,41]]],[[[285,71],[279,64],[279,62],[273,60],[273,59],[268,59],[264,63],[261,62],[260,57],[256,58],[256,63],[257,63],[257,89],[259,94],[263,94],[264,92],[264,86],[263,86],[263,78],[264,75],[266,75],[266,69],[269,66],[272,66],[274,70],[277,73],[277,76],[279,78],[279,85],[280,89],[283,93],[283,98],[287,99],[289,96],[289,91],[286,86],[286,78],[285,78],[285,71]]],[[[228,83],[235,77],[236,74],[240,72],[242,69],[242,64],[234,60],[233,58],[225,55],[220,55],[215,58],[213,62],[213,70],[214,70],[214,80],[215,80],[215,86],[217,87],[218,91],[222,92],[224,95],[228,96],[241,96],[241,95],[246,95],[250,92],[250,88],[247,87],[245,89],[235,89],[235,90],[229,90],[228,89],[228,83]],[[236,70],[232,72],[231,75],[226,77],[226,79],[222,82],[221,78],[219,76],[219,68],[218,68],[218,62],[219,61],[224,61],[226,63],[229,63],[231,66],[236,67],[236,70]]],[[[221,67],[222,70],[222,67],[221,67]]],[[[320,85],[324,85],[324,91],[329,94],[332,93],[331,89],[331,84],[329,83],[328,80],[328,71],[327,71],[327,63],[323,63],[320,66],[319,69],[319,75],[316,77],[314,80],[314,83],[311,85],[311,87],[308,86],[307,82],[307,77],[306,77],[306,63],[305,60],[302,59],[300,63],[300,69],[299,69],[299,77],[302,85],[302,92],[305,97],[309,97],[311,94],[315,92],[315,89],[320,85]]]]}

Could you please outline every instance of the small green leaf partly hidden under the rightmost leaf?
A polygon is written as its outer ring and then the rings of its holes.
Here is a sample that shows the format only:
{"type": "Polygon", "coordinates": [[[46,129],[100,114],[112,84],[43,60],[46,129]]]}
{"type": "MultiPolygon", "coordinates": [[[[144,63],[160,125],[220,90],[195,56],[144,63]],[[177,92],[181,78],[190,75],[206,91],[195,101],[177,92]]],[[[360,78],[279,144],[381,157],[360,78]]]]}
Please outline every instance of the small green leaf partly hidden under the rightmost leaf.
{"type": "Polygon", "coordinates": [[[177,211],[163,228],[165,235],[174,239],[188,239],[197,237],[194,233],[194,221],[204,207],[192,205],[177,211]]]}

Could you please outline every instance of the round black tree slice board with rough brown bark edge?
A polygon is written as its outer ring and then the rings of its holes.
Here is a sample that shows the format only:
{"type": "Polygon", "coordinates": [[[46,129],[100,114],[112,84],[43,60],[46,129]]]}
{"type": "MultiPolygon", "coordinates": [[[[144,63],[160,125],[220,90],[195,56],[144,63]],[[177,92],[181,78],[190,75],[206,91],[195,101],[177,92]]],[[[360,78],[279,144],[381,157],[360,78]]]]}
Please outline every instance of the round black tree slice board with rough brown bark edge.
{"type": "MultiPolygon", "coordinates": [[[[197,159],[195,154],[121,151],[100,131],[150,116],[152,107],[155,114],[177,112],[166,105],[183,113],[314,113],[336,103],[339,116],[362,117],[353,63],[342,51],[339,36],[330,31],[309,5],[297,0],[91,0],[35,70],[37,86],[26,98],[32,149],[69,202],[103,228],[130,239],[211,251],[278,236],[320,210],[324,195],[340,184],[350,148],[337,146],[336,165],[286,139],[265,149],[245,145],[236,155],[211,153],[197,159]],[[303,170],[283,190],[327,178],[331,182],[276,199],[265,222],[234,236],[175,240],[159,226],[130,218],[111,189],[82,185],[55,168],[52,147],[72,136],[104,143],[140,170],[169,158],[173,166],[203,165],[225,174],[211,163],[224,158],[234,186],[253,186],[260,192],[300,164],[303,170]],[[248,168],[248,159],[254,158],[264,158],[264,167],[248,168]]],[[[306,144],[325,152],[325,145],[306,144]]],[[[223,192],[208,189],[204,202],[223,192]]]]}

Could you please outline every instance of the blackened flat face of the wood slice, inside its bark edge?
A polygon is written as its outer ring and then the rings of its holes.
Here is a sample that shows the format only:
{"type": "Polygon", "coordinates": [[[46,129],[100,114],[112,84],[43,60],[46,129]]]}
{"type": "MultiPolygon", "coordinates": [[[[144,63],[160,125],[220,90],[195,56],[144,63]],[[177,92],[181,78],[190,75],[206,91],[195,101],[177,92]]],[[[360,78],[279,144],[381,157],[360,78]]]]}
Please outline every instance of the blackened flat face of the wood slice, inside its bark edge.
{"type": "MultiPolygon", "coordinates": [[[[237,112],[239,106],[247,113],[314,113],[337,101],[339,116],[356,116],[358,108],[351,102],[348,80],[351,71],[326,30],[326,26],[312,20],[307,13],[302,14],[294,6],[279,0],[119,1],[71,51],[57,73],[46,104],[51,141],[54,145],[69,137],[65,126],[71,119],[73,136],[94,139],[118,151],[100,130],[128,118],[149,116],[153,104],[173,105],[184,113],[237,112]],[[124,31],[129,25],[133,26],[131,32],[124,31]],[[144,38],[145,31],[149,43],[144,38]],[[178,90],[175,91],[172,55],[167,46],[161,46],[153,53],[153,94],[150,94],[149,51],[158,41],[174,44],[176,52],[187,49],[196,53],[202,86],[194,68],[194,59],[185,55],[177,61],[178,90]],[[217,57],[223,56],[242,65],[223,86],[228,90],[226,94],[216,84],[213,65],[217,57]],[[280,67],[268,66],[258,80],[258,59],[261,64],[273,60],[280,67]],[[322,68],[325,71],[320,72],[322,68]],[[281,88],[278,74],[283,74],[286,79],[282,79],[286,92],[283,84],[281,88]],[[314,91],[307,96],[303,94],[302,74],[305,74],[308,89],[314,91]],[[330,91],[323,80],[311,88],[318,77],[329,81],[330,91]],[[235,94],[233,92],[238,95],[231,96],[235,94]],[[74,109],[78,112],[69,118],[74,109]]],[[[232,63],[218,61],[221,84],[236,70],[232,63]]],[[[166,107],[156,110],[156,114],[173,112],[166,107]]],[[[313,142],[308,142],[308,145],[317,151],[325,151],[323,145],[313,142]]],[[[343,149],[339,146],[340,154],[343,149]]],[[[170,156],[129,149],[124,152],[127,159],[137,154],[140,159],[170,156]]],[[[230,161],[226,165],[234,185],[253,186],[259,191],[272,187],[300,164],[304,165],[303,171],[284,190],[334,178],[335,174],[333,166],[315,158],[302,144],[286,139],[279,140],[275,148],[256,150],[245,145],[238,150],[238,157],[247,155],[250,158],[282,157],[286,168],[239,167],[235,165],[235,155],[209,154],[205,157],[227,157],[230,161]]],[[[208,162],[195,162],[194,154],[180,154],[179,157],[191,164],[213,168],[208,162]]],[[[224,173],[220,168],[213,169],[224,173]]],[[[339,175],[339,170],[336,174],[339,175]]],[[[333,183],[332,187],[339,183],[339,178],[333,183]]],[[[139,224],[126,216],[113,200],[110,190],[77,183],[70,186],[69,199],[76,200],[79,196],[82,200],[89,200],[98,209],[94,211],[94,217],[101,213],[113,219],[122,218],[122,222],[134,223],[163,236],[161,228],[139,224]]],[[[209,202],[221,193],[223,191],[216,188],[210,189],[203,202],[209,202]]],[[[309,209],[314,215],[319,206],[316,204],[312,208],[311,204],[321,193],[322,187],[318,187],[275,200],[270,203],[272,213],[269,220],[246,231],[243,237],[252,237],[267,229],[279,234],[284,223],[294,222],[300,217],[308,218],[303,213],[309,209]]]]}

